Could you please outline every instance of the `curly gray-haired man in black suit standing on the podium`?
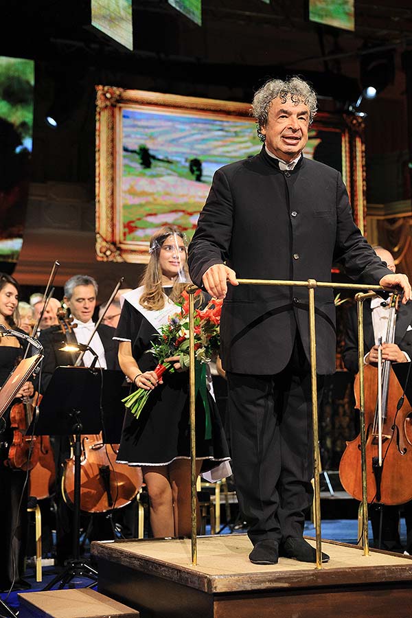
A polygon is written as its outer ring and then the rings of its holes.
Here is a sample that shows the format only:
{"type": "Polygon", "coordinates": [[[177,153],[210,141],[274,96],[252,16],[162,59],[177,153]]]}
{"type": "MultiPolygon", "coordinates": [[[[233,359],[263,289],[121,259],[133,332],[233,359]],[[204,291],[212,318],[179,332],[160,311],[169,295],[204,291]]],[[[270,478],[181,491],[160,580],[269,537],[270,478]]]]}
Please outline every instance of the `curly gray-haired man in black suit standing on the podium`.
{"type": "MultiPolygon", "coordinates": [[[[316,561],[303,538],[313,472],[308,293],[238,286],[236,277],[330,282],[339,261],[354,279],[399,285],[403,301],[411,297],[406,275],[392,273],[354,224],[341,174],[303,156],[316,108],[298,77],[256,93],[262,150],[216,172],[189,247],[192,281],[225,298],[220,353],[233,470],[255,564],[316,561]]],[[[335,371],[332,289],[319,288],[315,302],[320,401],[323,376],[335,371]]]]}

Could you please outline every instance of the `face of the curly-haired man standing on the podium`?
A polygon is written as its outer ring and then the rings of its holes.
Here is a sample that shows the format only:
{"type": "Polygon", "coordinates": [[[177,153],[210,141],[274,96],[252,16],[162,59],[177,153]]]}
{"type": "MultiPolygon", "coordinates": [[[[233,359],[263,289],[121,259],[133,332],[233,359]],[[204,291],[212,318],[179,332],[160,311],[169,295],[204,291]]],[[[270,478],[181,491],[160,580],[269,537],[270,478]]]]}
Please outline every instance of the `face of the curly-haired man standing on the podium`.
{"type": "Polygon", "coordinates": [[[285,103],[273,99],[268,112],[268,122],[261,128],[266,135],[266,148],[282,161],[293,161],[304,150],[308,141],[309,108],[305,103],[285,103]]]}

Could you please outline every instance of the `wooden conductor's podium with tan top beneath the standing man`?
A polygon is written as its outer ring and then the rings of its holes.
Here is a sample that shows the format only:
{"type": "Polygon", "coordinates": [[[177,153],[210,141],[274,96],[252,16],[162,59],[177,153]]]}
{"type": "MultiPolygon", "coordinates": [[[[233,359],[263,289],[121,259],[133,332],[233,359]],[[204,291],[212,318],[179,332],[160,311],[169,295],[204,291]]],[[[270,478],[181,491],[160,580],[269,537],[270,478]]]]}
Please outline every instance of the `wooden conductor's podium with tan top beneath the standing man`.
{"type": "MultiPolygon", "coordinates": [[[[310,540],[314,544],[313,540],[310,540]]],[[[411,618],[412,558],[323,542],[330,562],[251,564],[246,535],[95,542],[98,590],[141,618],[411,618]]]]}

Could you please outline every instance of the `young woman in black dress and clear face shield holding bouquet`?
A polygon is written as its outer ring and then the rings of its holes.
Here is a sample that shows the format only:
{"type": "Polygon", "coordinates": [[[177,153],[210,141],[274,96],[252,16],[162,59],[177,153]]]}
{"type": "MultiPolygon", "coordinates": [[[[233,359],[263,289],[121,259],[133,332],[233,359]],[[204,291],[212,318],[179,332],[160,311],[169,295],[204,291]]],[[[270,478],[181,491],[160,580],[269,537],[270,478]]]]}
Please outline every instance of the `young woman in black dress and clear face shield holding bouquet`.
{"type": "MultiPolygon", "coordinates": [[[[176,302],[187,287],[186,246],[175,227],[163,227],[150,240],[150,260],[141,286],[124,295],[115,339],[119,363],[135,387],[151,390],[139,419],[126,411],[117,461],[141,466],[150,499],[150,525],[155,537],[189,536],[190,426],[189,378],[179,356],[168,360],[175,371],[159,380],[157,359],[148,352],[159,327],[179,312],[176,302]]],[[[209,396],[212,437],[205,439],[205,410],[196,401],[197,471],[229,460],[222,424],[209,396]]],[[[230,472],[229,472],[230,473],[230,472]]],[[[225,474],[223,474],[225,475],[225,474]]]]}

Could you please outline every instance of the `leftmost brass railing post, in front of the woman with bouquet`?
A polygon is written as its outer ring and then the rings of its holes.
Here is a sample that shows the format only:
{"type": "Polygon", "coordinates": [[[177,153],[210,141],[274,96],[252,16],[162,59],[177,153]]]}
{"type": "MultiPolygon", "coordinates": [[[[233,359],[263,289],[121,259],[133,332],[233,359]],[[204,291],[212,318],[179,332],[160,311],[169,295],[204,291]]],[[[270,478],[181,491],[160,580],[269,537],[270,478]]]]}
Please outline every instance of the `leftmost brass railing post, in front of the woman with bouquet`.
{"type": "Polygon", "coordinates": [[[190,414],[190,478],[192,503],[192,564],[197,564],[197,491],[196,491],[196,385],[194,357],[194,293],[196,287],[191,286],[189,292],[189,414],[190,414]]]}

